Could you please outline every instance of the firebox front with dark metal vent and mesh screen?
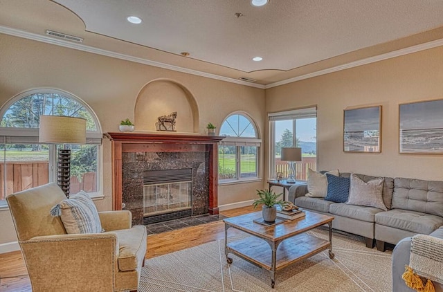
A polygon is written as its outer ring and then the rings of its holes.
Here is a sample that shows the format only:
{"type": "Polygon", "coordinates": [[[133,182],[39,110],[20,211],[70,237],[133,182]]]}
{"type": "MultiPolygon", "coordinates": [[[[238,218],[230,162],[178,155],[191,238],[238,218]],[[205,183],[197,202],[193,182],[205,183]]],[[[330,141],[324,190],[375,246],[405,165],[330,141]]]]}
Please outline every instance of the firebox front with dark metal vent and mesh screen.
{"type": "Polygon", "coordinates": [[[145,217],[191,210],[191,169],[145,172],[143,183],[145,217]]]}

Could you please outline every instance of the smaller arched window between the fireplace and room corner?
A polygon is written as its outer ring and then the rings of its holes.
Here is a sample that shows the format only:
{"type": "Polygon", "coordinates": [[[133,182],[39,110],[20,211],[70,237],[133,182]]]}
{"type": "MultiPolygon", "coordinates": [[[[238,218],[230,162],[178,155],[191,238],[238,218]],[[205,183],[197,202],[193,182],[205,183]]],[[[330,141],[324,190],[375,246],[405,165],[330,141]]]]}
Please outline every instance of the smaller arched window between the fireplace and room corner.
{"type": "Polygon", "coordinates": [[[253,120],[233,113],[221,124],[219,136],[219,182],[247,181],[259,177],[261,140],[253,120]]]}

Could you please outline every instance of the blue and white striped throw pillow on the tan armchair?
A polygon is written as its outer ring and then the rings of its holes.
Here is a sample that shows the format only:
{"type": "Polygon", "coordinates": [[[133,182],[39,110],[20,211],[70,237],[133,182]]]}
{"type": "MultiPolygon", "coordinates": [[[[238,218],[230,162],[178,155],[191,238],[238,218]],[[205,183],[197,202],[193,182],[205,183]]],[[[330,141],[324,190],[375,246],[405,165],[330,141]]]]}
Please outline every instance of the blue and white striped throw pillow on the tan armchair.
{"type": "Polygon", "coordinates": [[[86,192],[80,191],[64,199],[51,209],[51,215],[60,216],[68,234],[103,232],[96,205],[86,192]]]}

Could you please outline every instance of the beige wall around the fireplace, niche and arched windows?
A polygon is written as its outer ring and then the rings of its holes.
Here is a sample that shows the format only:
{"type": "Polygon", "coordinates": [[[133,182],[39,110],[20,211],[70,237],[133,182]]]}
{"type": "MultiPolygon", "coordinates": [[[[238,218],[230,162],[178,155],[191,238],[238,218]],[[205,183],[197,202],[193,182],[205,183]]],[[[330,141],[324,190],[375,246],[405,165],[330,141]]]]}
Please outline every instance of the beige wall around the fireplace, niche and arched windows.
{"type": "MultiPolygon", "coordinates": [[[[118,131],[120,120],[134,121],[136,99],[139,93],[143,95],[144,86],[152,80],[165,79],[181,84],[192,94],[199,111],[200,134],[206,134],[208,122],[219,128],[233,111],[246,111],[260,133],[264,132],[262,89],[1,34],[0,52],[0,104],[27,89],[62,89],[89,104],[103,132],[118,131]]],[[[166,113],[157,116],[163,114],[166,113]]],[[[258,182],[220,186],[219,205],[252,199],[262,185],[258,182]]],[[[111,143],[107,139],[103,141],[103,192],[105,199],[96,200],[96,204],[100,210],[111,210],[111,143]]],[[[0,211],[0,222],[0,244],[15,240],[8,210],[0,211]]]]}

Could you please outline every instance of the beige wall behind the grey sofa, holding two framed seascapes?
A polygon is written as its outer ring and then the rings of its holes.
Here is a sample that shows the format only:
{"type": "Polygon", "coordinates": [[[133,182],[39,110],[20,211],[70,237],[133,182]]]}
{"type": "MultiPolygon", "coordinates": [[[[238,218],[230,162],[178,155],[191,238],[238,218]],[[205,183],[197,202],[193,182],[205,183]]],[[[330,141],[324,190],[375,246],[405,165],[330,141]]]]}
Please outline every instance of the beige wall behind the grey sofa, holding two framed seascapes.
{"type": "Polygon", "coordinates": [[[317,104],[319,170],[443,180],[442,155],[399,154],[398,146],[399,104],[437,98],[443,47],[267,89],[266,111],[317,104]],[[381,153],[344,153],[343,110],[368,105],[382,106],[381,153]]]}

